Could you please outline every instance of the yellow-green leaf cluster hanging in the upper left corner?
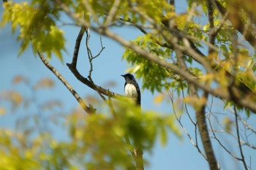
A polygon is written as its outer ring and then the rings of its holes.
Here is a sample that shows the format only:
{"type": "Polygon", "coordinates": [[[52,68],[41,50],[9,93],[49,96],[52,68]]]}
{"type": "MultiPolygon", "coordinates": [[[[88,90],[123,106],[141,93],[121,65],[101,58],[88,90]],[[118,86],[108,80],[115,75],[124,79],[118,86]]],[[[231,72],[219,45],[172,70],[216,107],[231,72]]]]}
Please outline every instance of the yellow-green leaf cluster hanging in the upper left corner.
{"type": "Polygon", "coordinates": [[[12,33],[20,26],[19,54],[31,43],[34,53],[45,52],[48,58],[54,53],[62,61],[65,39],[63,31],[56,26],[55,20],[59,19],[56,9],[50,7],[47,1],[31,1],[31,4],[7,2],[4,7],[0,26],[10,22],[12,33]]]}

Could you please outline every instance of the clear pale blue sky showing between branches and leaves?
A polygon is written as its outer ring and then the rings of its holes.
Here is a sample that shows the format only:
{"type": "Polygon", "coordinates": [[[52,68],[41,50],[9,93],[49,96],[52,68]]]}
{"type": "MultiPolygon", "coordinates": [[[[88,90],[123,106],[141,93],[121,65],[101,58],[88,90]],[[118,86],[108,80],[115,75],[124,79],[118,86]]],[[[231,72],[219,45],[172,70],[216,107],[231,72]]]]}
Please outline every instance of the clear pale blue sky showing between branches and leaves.
{"type": "MultiPolygon", "coordinates": [[[[181,7],[186,9],[186,7],[181,7]]],[[[0,13],[2,7],[0,9],[0,13]]],[[[80,96],[97,96],[97,93],[83,85],[81,82],[76,80],[74,75],[69,71],[65,63],[70,63],[72,60],[72,52],[75,46],[75,39],[78,35],[79,28],[74,26],[63,26],[65,37],[67,39],[67,54],[64,54],[64,63],[61,63],[55,57],[52,58],[50,63],[58,69],[59,72],[65,77],[65,79],[72,85],[73,88],[80,94],[80,96]]],[[[115,30],[118,34],[126,39],[134,39],[140,35],[139,31],[135,28],[121,28],[115,30]]],[[[31,91],[25,85],[12,85],[12,78],[16,75],[23,75],[28,77],[32,84],[41,80],[43,77],[51,77],[56,83],[52,90],[46,90],[36,94],[37,102],[47,101],[48,99],[59,98],[63,101],[61,112],[70,112],[74,107],[78,106],[77,101],[71,93],[64,87],[64,85],[50,72],[40,61],[37,56],[31,52],[31,49],[26,50],[25,53],[18,57],[19,45],[15,40],[17,32],[12,35],[10,26],[0,29],[0,92],[4,90],[18,90],[25,96],[30,96],[31,91]]],[[[102,37],[102,43],[105,46],[105,50],[94,60],[94,72],[92,78],[97,85],[105,87],[108,82],[116,82],[115,86],[110,86],[111,91],[124,94],[124,78],[121,74],[124,74],[127,69],[126,61],[121,59],[124,53],[124,48],[118,45],[112,40],[102,37]]],[[[91,49],[93,53],[97,53],[99,50],[99,36],[91,34],[91,49]]],[[[85,41],[83,39],[78,69],[84,76],[88,75],[89,63],[86,55],[85,41]]],[[[141,86],[140,80],[138,80],[141,86]]],[[[0,105],[8,106],[6,102],[3,102],[0,98],[0,105]]],[[[154,104],[154,95],[148,90],[142,91],[142,108],[144,110],[156,110],[157,112],[163,112],[170,114],[173,110],[170,104],[164,103],[162,105],[154,104]]],[[[33,108],[32,108],[33,109],[33,108]]],[[[34,106],[34,111],[37,108],[34,106]]],[[[8,112],[12,112],[11,109],[8,112]]],[[[33,112],[33,110],[31,111],[33,112]]],[[[7,114],[0,117],[0,127],[13,128],[14,120],[17,119],[20,114],[23,114],[21,109],[18,109],[15,114],[7,114]]],[[[189,132],[193,133],[194,128],[192,124],[184,116],[184,125],[187,125],[189,132]]],[[[178,123],[177,123],[178,125],[178,123]]],[[[59,129],[53,131],[56,138],[61,139],[61,133],[59,129]]],[[[234,144],[233,144],[234,146],[234,144]]],[[[216,149],[216,155],[222,165],[222,170],[225,169],[241,169],[241,165],[238,165],[230,159],[224,151],[220,151],[219,146],[214,143],[214,149],[216,149]]],[[[236,150],[236,148],[233,148],[236,150]]],[[[252,151],[248,151],[252,152],[252,151]]],[[[255,152],[252,152],[252,160],[256,159],[255,152]]],[[[183,139],[173,134],[169,135],[167,146],[162,147],[161,144],[157,143],[154,147],[153,152],[145,153],[145,156],[150,161],[150,166],[146,169],[157,170],[157,169],[177,169],[177,170],[204,170],[208,169],[208,164],[204,158],[197,152],[196,148],[189,142],[187,136],[184,135],[183,139]]],[[[254,163],[252,162],[252,166],[254,163]]],[[[255,167],[254,165],[253,167],[255,167]]]]}

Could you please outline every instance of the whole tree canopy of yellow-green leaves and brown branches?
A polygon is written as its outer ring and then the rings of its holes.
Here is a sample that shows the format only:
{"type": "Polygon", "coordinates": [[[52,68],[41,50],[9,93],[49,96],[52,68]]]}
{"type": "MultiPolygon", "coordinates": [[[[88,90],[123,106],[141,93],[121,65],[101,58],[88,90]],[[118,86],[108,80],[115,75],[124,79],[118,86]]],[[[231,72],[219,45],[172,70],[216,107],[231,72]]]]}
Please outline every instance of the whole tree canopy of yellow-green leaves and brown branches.
{"type": "MultiPolygon", "coordinates": [[[[213,142],[241,163],[243,169],[252,169],[252,161],[248,155],[244,157],[243,150],[256,148],[252,144],[255,127],[247,122],[256,114],[255,1],[3,2],[0,26],[10,23],[12,32],[18,30],[19,54],[31,46],[83,111],[74,110],[65,117],[68,142],[56,142],[50,133],[16,134],[1,129],[0,146],[5,148],[0,151],[2,169],[144,169],[143,152],[150,152],[157,139],[165,144],[170,132],[181,136],[179,129],[205,158],[209,169],[222,169],[213,142]],[[181,4],[187,6],[186,12],[178,9],[181,4]],[[64,16],[70,20],[63,20],[64,16]],[[97,91],[101,98],[97,102],[89,104],[81,98],[49,62],[50,58],[63,62],[67,42],[61,28],[67,25],[80,28],[67,67],[88,90],[97,91]],[[129,41],[117,34],[118,28],[126,27],[136,28],[140,36],[129,41]],[[141,80],[142,89],[157,93],[156,103],[167,101],[173,108],[170,114],[138,108],[129,98],[94,83],[94,59],[102,55],[105,47],[100,40],[97,55],[91,53],[90,31],[124,47],[122,58],[129,64],[128,72],[141,80]],[[90,66],[86,76],[77,69],[83,36],[90,66]],[[221,104],[215,105],[214,101],[221,104]],[[222,112],[214,112],[213,107],[219,106],[222,112]],[[184,115],[194,125],[195,134],[187,133],[181,121],[184,115]],[[233,136],[238,155],[225,147],[225,142],[219,139],[220,132],[233,136]]],[[[28,83],[24,77],[15,81],[28,83]]],[[[42,80],[32,90],[51,86],[50,80],[42,80]]],[[[14,106],[23,102],[18,93],[1,96],[14,106]]]]}

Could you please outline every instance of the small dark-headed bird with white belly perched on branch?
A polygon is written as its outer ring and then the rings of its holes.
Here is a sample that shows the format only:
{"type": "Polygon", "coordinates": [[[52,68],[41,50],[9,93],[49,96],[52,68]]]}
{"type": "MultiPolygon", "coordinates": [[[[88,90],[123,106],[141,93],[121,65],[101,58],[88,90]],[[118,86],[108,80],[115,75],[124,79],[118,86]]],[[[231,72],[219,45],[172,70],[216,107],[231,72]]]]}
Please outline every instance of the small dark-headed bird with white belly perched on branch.
{"type": "Polygon", "coordinates": [[[140,105],[140,87],[132,74],[121,75],[125,79],[124,92],[129,98],[133,98],[140,105]]]}

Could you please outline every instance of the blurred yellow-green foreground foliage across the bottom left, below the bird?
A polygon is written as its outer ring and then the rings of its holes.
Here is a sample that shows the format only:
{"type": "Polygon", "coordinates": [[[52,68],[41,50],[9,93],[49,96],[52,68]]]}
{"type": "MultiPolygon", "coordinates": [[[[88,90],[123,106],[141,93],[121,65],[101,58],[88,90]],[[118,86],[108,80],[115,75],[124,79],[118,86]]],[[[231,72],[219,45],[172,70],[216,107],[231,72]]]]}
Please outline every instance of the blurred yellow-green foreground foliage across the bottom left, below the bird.
{"type": "MultiPolygon", "coordinates": [[[[39,88],[53,88],[53,81],[49,78],[31,85],[28,78],[17,76],[12,82],[15,85],[25,83],[33,90],[33,96],[39,88]]],[[[12,93],[5,95],[10,98],[3,95],[1,98],[17,105],[18,99],[12,99],[15,98],[10,95],[12,93]]],[[[22,93],[17,92],[15,95],[20,98],[16,109],[21,109],[20,106],[25,103],[30,106],[37,101],[36,98],[30,100],[30,97],[23,96],[22,93]]],[[[94,100],[100,102],[97,98],[94,100]]],[[[24,114],[15,123],[15,131],[0,129],[0,169],[135,169],[134,160],[129,153],[132,146],[151,152],[157,140],[163,145],[167,143],[167,134],[170,132],[181,136],[173,115],[159,115],[151,111],[140,113],[140,108],[131,107],[133,101],[127,99],[114,104],[116,117],[110,114],[111,111],[105,104],[101,106],[104,112],[90,116],[85,115],[81,109],[74,109],[67,114],[56,113],[56,108],[61,108],[61,101],[49,100],[35,104],[39,114],[41,111],[45,112],[44,116],[24,114]],[[45,128],[49,124],[64,129],[61,133],[66,140],[60,141],[58,136],[53,136],[45,128]],[[127,137],[131,143],[127,143],[127,137]]],[[[23,107],[23,111],[26,110],[30,110],[30,107],[23,107]]],[[[7,111],[1,116],[9,114],[7,111]]]]}

